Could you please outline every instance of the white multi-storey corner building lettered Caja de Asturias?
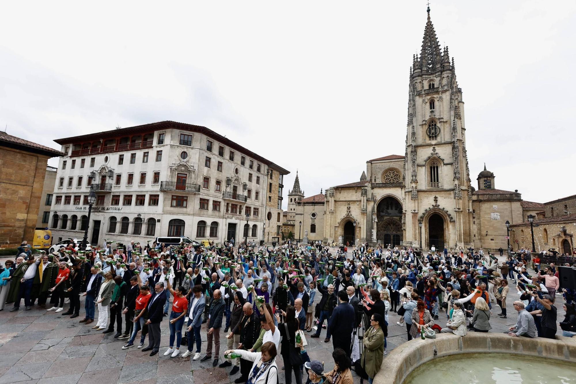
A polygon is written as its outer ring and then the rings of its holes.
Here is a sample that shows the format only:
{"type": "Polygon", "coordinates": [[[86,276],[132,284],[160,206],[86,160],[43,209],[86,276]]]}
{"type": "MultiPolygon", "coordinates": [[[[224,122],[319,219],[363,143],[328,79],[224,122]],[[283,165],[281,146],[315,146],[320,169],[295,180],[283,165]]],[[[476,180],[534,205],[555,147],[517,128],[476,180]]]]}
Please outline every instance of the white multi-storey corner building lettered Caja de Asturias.
{"type": "Polygon", "coordinates": [[[55,242],[84,236],[91,190],[93,244],[157,236],[259,242],[270,170],[289,173],[206,127],[172,121],[55,141],[67,154],[52,199],[55,242]]]}

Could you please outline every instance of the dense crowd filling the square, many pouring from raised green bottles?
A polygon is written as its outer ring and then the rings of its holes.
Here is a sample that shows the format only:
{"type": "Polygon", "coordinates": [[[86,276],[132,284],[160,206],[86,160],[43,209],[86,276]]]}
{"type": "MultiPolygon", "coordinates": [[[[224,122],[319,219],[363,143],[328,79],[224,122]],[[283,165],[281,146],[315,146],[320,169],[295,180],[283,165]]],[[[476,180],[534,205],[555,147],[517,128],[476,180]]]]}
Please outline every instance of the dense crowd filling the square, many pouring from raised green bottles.
{"type": "Polygon", "coordinates": [[[528,274],[528,259],[525,252],[498,262],[482,250],[433,247],[425,254],[364,244],[350,253],[344,245],[290,241],[278,247],[232,242],[142,247],[105,240],[101,249],[81,250],[71,242],[52,254],[32,253],[22,243],[16,261],[0,268],[0,310],[13,303],[10,311],[18,311],[22,299],[30,310],[37,300],[46,311],[76,318],[84,297],[79,323],[96,320],[92,329],[115,332],[123,349],[136,344],[150,356],[161,352],[166,321],[164,356],[232,367],[231,375],[241,374],[236,383],[276,383],[278,352],[286,384],[292,377],[297,384],[352,384],[353,364],[372,383],[386,355],[393,314],[396,325],[406,326],[408,340],[439,332],[465,336],[489,332],[495,307],[507,318],[506,299],[517,296],[517,324],[506,333],[554,338],[559,321],[554,303],[563,295],[566,315],[559,325],[563,336],[576,335],[574,292],[559,287],[554,264],[528,274]],[[445,327],[436,323],[440,316],[446,317],[445,327]],[[310,361],[305,349],[306,338],[319,338],[323,329],[324,342],[334,347],[331,372],[310,361]]]}

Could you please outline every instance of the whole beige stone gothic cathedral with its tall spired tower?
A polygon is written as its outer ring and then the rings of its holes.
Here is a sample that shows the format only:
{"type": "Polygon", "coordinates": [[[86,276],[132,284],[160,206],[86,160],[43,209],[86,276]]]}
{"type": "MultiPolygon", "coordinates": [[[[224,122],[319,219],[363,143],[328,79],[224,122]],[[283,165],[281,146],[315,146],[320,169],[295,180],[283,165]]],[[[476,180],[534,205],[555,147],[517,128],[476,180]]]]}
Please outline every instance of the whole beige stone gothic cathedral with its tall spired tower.
{"type": "Polygon", "coordinates": [[[404,156],[366,161],[357,182],[305,197],[298,174],[288,194],[283,233],[336,243],[430,249],[507,248],[507,227],[544,205],[518,191],[495,189],[484,170],[472,186],[466,153],[462,89],[454,59],[441,49],[430,8],[408,84],[404,156]]]}

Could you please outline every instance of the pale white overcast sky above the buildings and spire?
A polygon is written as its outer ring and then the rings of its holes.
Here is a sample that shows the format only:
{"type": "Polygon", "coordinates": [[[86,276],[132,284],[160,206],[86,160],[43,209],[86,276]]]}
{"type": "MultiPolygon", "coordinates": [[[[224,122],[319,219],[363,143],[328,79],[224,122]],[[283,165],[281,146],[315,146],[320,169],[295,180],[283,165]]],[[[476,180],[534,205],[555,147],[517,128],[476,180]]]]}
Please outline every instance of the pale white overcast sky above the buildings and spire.
{"type": "MultiPolygon", "coordinates": [[[[92,4],[0,6],[9,134],[59,148],[117,125],[203,125],[291,171],[285,202],[297,169],[310,196],[404,155],[426,1],[92,4]]],[[[473,186],[486,162],[526,200],[576,193],[576,2],[430,7],[464,93],[473,186]]]]}

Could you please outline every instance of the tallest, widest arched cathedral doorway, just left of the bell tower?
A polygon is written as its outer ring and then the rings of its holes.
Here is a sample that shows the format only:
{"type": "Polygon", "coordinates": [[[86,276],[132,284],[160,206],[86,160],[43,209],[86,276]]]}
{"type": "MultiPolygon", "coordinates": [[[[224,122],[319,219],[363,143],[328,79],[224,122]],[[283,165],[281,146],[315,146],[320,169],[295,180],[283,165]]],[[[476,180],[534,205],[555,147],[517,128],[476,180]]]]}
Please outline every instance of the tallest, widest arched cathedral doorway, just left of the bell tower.
{"type": "Polygon", "coordinates": [[[384,246],[400,245],[403,240],[402,231],[402,204],[395,197],[386,196],[378,202],[376,207],[378,223],[376,225],[376,239],[384,246]]]}

